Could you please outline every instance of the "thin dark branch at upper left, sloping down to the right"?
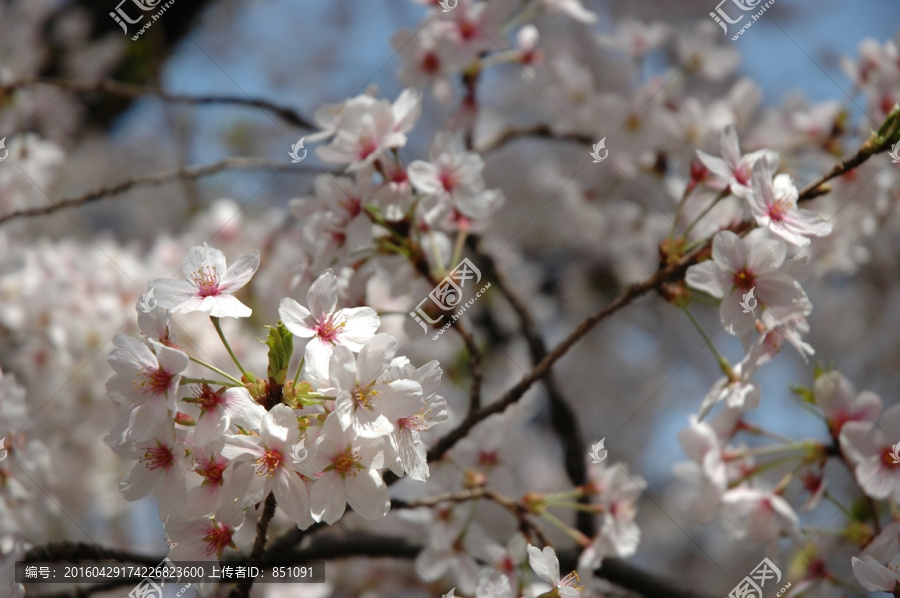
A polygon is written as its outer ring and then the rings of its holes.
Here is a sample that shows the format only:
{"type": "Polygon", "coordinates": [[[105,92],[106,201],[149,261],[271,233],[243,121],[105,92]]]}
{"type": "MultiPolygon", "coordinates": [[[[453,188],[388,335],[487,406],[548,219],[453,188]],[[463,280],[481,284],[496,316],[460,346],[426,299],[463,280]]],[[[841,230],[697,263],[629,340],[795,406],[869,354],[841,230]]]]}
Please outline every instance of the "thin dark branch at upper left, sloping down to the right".
{"type": "Polygon", "coordinates": [[[301,129],[315,130],[318,127],[307,120],[296,110],[281,106],[269,100],[238,96],[188,96],[172,94],[161,89],[122,83],[112,79],[101,81],[70,81],[66,79],[51,79],[45,77],[32,77],[12,81],[6,85],[0,85],[0,98],[25,87],[36,85],[49,85],[65,91],[80,94],[106,94],[120,98],[135,99],[143,96],[154,96],[166,102],[176,104],[233,104],[238,106],[250,106],[271,112],[286,123],[301,129]]]}

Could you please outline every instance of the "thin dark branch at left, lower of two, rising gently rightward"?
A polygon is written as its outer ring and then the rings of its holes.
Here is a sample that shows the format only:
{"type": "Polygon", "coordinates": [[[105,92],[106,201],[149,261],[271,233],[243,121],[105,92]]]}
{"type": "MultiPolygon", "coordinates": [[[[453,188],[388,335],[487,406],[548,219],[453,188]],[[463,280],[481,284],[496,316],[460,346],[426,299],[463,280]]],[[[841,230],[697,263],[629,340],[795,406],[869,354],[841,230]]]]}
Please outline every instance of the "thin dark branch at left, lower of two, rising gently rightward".
{"type": "MultiPolygon", "coordinates": [[[[156,186],[174,180],[192,180],[201,177],[217,174],[226,170],[279,170],[285,169],[286,172],[296,171],[296,168],[290,168],[287,160],[273,160],[271,158],[226,158],[212,164],[202,164],[200,166],[185,166],[176,170],[168,170],[165,172],[157,172],[153,174],[139,175],[131,179],[113,183],[106,187],[94,189],[76,195],[61,199],[49,206],[41,206],[39,208],[29,208],[11,212],[0,216],[0,224],[16,220],[18,218],[33,218],[35,216],[44,216],[52,214],[66,208],[75,208],[89,203],[100,201],[111,195],[124,193],[134,187],[156,186]]],[[[307,172],[304,170],[304,172],[307,172]]]]}

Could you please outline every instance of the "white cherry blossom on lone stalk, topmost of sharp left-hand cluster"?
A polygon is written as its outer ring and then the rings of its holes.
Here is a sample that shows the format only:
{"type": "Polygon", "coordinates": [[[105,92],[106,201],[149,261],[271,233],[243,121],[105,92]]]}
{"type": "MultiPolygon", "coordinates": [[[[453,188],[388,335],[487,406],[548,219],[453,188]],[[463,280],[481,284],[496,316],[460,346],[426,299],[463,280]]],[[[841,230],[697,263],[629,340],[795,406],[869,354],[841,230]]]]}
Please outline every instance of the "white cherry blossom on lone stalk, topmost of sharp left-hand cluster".
{"type": "Polygon", "coordinates": [[[149,283],[160,307],[176,313],[209,312],[216,318],[246,318],[252,311],[234,296],[259,268],[259,252],[226,268],[225,254],[206,243],[191,247],[181,270],[187,280],[158,278],[149,283]]]}

